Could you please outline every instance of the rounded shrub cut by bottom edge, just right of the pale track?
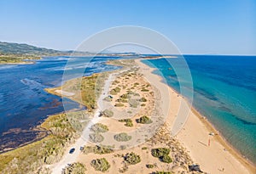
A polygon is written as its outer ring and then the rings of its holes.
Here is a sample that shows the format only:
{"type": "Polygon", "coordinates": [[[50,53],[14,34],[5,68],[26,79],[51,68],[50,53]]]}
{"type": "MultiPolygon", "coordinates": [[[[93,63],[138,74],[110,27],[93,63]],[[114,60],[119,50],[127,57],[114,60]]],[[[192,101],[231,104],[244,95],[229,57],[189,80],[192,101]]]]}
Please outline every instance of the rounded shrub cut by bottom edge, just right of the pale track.
{"type": "Polygon", "coordinates": [[[84,174],[86,171],[85,166],[82,163],[75,162],[68,164],[63,170],[62,174],[84,174]]]}

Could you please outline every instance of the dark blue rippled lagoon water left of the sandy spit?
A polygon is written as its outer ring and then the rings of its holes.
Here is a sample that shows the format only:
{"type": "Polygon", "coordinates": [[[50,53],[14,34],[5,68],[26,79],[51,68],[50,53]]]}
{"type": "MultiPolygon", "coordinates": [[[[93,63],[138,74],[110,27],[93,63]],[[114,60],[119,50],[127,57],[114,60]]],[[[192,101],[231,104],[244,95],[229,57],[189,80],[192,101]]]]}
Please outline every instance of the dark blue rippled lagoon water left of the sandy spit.
{"type": "MultiPolygon", "coordinates": [[[[36,60],[33,65],[0,65],[0,152],[5,147],[17,147],[37,135],[25,132],[38,126],[48,115],[64,111],[62,99],[44,92],[46,87],[61,85],[64,69],[65,80],[89,76],[95,72],[115,70],[119,67],[104,65],[108,59],[119,57],[71,58],[51,57],[36,60]],[[12,131],[20,128],[22,131],[12,131]],[[8,132],[8,133],[7,133],[8,132]]],[[[80,104],[65,99],[65,109],[82,109],[80,104]]]]}

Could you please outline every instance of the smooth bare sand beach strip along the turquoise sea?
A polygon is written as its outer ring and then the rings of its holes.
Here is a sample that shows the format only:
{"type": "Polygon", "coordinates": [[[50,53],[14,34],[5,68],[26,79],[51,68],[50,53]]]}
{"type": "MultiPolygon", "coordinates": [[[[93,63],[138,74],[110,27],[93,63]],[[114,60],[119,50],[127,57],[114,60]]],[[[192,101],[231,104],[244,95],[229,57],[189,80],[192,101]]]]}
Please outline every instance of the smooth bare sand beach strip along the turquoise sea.
{"type": "MultiPolygon", "coordinates": [[[[181,104],[186,103],[185,99],[161,82],[160,76],[152,73],[153,68],[144,65],[138,59],[136,62],[148,82],[154,84],[160,91],[166,91],[167,88],[169,94],[161,95],[161,100],[172,101],[168,103],[169,114],[166,119],[166,124],[171,128],[181,104]]],[[[224,138],[217,134],[214,127],[192,108],[188,120],[175,138],[189,151],[192,160],[201,166],[202,171],[207,173],[255,173],[255,166],[245,160],[241,154],[238,154],[224,141],[224,138]],[[214,136],[210,136],[210,132],[213,132],[214,136]]]]}

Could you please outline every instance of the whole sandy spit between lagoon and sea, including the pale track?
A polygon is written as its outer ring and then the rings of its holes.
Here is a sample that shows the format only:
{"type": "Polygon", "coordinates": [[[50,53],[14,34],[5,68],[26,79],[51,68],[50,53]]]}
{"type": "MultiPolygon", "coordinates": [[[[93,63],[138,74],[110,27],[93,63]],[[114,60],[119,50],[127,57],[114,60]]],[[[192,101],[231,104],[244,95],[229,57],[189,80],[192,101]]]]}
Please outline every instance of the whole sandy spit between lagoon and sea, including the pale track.
{"type": "MultiPolygon", "coordinates": [[[[61,173],[62,168],[73,162],[84,164],[88,172],[102,173],[90,165],[91,160],[100,158],[109,162],[111,167],[108,173],[123,170],[132,174],[154,171],[188,173],[188,166],[192,164],[200,165],[205,173],[255,173],[255,167],[226,143],[204,116],[190,108],[186,99],[162,82],[160,76],[152,73],[153,68],[144,65],[140,59],[136,59],[135,63],[123,61],[126,63],[125,69],[111,73],[105,81],[91,124],[84,129],[81,138],[67,148],[62,160],[49,167],[54,173],[61,173]],[[133,94],[128,94],[129,91],[133,94]],[[141,98],[145,98],[145,101],[132,108],[131,100],[139,101],[141,98]],[[112,115],[100,116],[104,110],[111,110],[112,115]],[[139,124],[137,119],[142,115],[148,115],[152,122],[139,124]],[[180,119],[183,115],[188,115],[188,118],[180,119]],[[120,119],[130,120],[132,125],[125,126],[120,119]],[[175,125],[177,120],[183,126],[175,125]],[[89,138],[93,134],[90,127],[96,123],[108,127],[108,131],[102,133],[104,138],[100,142],[92,142],[89,138]],[[127,132],[131,139],[115,141],[114,135],[120,132],[127,132]],[[113,152],[87,154],[79,151],[80,147],[92,148],[96,144],[112,147],[113,152]],[[71,148],[77,149],[74,154],[68,153],[71,148]],[[164,163],[152,156],[152,150],[158,148],[171,150],[169,155],[172,163],[164,163]],[[141,161],[127,165],[123,157],[129,153],[139,155],[141,161]],[[147,165],[154,167],[148,168],[147,165]]],[[[72,83],[70,85],[72,87],[72,83]]],[[[72,91],[52,90],[59,95],[65,92],[67,97],[73,96],[72,91]]]]}

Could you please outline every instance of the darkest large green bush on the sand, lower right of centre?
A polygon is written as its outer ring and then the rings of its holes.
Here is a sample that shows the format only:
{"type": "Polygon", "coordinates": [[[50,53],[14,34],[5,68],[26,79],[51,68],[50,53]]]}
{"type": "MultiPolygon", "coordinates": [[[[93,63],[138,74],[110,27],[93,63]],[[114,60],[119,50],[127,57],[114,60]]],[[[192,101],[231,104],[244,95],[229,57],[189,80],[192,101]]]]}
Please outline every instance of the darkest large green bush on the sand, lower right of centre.
{"type": "Polygon", "coordinates": [[[159,160],[162,162],[165,162],[165,163],[172,162],[172,158],[169,156],[170,149],[167,149],[167,148],[152,149],[151,154],[152,156],[159,158],[159,160]]]}

